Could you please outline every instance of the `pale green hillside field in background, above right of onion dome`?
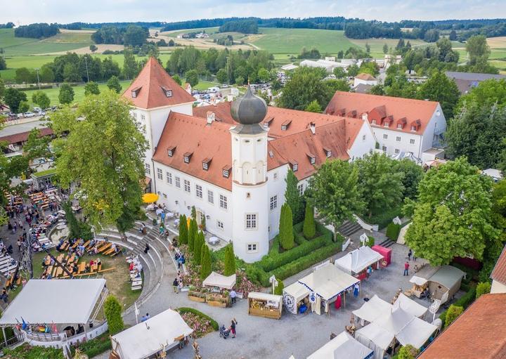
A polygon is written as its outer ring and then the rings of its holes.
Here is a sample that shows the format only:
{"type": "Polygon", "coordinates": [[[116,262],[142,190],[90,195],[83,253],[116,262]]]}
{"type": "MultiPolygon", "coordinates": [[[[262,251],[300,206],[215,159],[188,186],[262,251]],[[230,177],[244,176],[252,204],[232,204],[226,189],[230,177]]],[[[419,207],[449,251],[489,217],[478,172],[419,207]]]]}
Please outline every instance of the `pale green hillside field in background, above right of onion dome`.
{"type": "Polygon", "coordinates": [[[278,29],[261,27],[261,34],[250,35],[246,42],[259,46],[270,53],[284,53],[297,55],[306,46],[307,49],[316,47],[320,53],[337,54],[339,50],[353,46],[344,37],[343,31],[316,29],[278,29]]]}

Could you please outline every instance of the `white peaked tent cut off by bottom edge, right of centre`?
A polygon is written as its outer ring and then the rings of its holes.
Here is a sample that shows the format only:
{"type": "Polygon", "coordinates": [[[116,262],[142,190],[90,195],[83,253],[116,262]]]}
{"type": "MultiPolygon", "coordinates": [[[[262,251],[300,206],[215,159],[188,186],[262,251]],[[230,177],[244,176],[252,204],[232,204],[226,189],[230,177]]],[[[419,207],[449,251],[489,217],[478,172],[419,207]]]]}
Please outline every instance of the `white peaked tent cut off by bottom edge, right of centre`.
{"type": "Polygon", "coordinates": [[[351,337],[346,332],[341,332],[337,337],[319,348],[307,359],[368,359],[372,358],[372,350],[351,337]]]}

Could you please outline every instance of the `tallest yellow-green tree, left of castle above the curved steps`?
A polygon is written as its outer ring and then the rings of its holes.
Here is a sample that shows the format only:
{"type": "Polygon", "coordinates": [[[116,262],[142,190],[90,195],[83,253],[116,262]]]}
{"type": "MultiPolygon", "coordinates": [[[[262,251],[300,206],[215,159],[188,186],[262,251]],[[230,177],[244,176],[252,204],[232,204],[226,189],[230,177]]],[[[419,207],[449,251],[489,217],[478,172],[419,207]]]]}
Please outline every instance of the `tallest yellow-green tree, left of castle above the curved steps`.
{"type": "Polygon", "coordinates": [[[129,104],[105,90],[86,97],[75,111],[55,112],[51,120],[58,136],[53,144],[63,188],[79,183],[79,204],[93,226],[131,228],[142,204],[148,145],[129,104]]]}

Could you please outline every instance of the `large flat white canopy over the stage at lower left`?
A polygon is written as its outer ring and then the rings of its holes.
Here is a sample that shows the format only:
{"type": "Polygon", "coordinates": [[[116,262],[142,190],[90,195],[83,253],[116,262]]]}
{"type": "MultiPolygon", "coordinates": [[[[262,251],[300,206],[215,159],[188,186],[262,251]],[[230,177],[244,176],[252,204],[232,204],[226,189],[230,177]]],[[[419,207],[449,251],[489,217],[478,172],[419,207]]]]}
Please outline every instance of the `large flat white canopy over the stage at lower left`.
{"type": "Polygon", "coordinates": [[[0,318],[0,326],[28,324],[86,324],[100,294],[107,293],[105,279],[62,279],[27,282],[0,318]]]}

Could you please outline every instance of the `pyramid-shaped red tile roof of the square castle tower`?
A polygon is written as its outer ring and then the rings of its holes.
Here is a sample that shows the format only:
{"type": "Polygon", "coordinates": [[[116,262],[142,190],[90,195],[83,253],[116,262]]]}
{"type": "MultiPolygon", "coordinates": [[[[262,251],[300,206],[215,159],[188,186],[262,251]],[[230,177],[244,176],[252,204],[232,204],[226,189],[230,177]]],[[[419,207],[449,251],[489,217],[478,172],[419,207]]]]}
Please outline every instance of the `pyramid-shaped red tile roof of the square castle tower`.
{"type": "Polygon", "coordinates": [[[137,78],[123,93],[136,107],[150,109],[155,107],[193,103],[195,98],[184,90],[167,74],[155,58],[150,58],[137,78]],[[136,91],[136,97],[132,97],[136,91]],[[167,97],[166,91],[172,91],[167,97]]]}

